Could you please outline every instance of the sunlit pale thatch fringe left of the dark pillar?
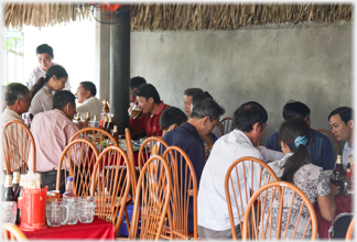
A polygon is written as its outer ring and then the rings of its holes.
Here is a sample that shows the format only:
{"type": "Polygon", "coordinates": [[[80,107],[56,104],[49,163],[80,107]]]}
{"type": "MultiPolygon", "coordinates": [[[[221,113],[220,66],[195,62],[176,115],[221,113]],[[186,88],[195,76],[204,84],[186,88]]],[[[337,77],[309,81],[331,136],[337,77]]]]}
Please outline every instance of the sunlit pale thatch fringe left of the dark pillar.
{"type": "Polygon", "coordinates": [[[4,3],[3,23],[6,28],[10,25],[13,28],[23,25],[53,26],[62,22],[88,19],[89,11],[88,4],[80,3],[4,3]]]}

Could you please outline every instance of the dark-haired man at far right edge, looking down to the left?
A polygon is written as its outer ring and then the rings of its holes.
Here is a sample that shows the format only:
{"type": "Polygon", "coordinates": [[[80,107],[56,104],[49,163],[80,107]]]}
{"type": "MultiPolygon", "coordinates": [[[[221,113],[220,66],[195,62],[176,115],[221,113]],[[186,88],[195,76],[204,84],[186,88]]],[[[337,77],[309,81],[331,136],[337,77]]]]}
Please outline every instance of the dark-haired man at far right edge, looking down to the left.
{"type": "Polygon", "coordinates": [[[349,107],[340,107],[328,116],[329,127],[338,141],[345,141],[343,152],[343,165],[346,167],[350,155],[354,155],[354,110],[349,107]]]}

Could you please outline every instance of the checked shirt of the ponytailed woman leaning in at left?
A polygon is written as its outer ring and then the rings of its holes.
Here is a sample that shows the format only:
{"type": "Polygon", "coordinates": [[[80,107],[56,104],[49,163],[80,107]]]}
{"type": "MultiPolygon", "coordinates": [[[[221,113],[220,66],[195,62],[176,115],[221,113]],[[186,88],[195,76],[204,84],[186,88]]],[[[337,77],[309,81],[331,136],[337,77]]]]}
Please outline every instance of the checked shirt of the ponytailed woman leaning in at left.
{"type": "Polygon", "coordinates": [[[45,84],[37,94],[32,98],[29,112],[37,114],[39,112],[50,111],[53,109],[52,90],[45,84]]]}

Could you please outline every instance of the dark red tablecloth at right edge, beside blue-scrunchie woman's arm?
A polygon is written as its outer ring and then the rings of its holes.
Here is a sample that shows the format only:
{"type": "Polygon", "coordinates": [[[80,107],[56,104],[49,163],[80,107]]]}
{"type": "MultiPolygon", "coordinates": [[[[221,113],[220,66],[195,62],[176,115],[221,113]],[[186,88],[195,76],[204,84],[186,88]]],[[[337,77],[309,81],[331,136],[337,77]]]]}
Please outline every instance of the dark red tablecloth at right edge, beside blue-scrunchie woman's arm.
{"type": "MultiPolygon", "coordinates": [[[[336,204],[336,216],[343,212],[351,212],[354,207],[354,198],[347,197],[345,195],[338,195],[335,197],[335,204],[336,204]]],[[[332,226],[332,222],[328,222],[325,220],[320,212],[317,202],[314,206],[316,217],[317,217],[317,232],[320,239],[328,239],[328,229],[332,226]]]]}

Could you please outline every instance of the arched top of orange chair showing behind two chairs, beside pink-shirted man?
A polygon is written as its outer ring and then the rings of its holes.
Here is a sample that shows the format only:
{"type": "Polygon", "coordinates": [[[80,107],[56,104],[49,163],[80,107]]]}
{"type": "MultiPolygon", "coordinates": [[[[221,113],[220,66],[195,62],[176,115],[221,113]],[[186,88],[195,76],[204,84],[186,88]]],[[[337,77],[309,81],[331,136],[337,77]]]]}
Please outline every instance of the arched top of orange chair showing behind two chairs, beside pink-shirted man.
{"type": "Polygon", "coordinates": [[[118,142],[116,139],[113,139],[113,136],[110,135],[110,133],[99,128],[82,129],[73,135],[69,142],[74,141],[75,139],[89,140],[90,143],[95,145],[99,154],[110,145],[119,146],[118,142]]]}

